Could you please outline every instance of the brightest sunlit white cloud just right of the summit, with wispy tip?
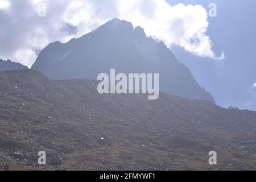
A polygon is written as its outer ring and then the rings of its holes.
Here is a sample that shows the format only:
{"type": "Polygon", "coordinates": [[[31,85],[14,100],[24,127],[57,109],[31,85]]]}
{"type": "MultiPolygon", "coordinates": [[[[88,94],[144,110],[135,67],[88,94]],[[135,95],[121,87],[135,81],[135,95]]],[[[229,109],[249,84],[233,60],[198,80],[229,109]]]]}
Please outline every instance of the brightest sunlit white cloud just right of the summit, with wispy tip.
{"type": "Polygon", "coordinates": [[[139,3],[142,2],[144,1],[124,3],[123,9],[121,6],[121,18],[130,20],[136,26],[142,26],[147,35],[163,40],[169,47],[176,45],[200,57],[224,59],[224,53],[220,57],[214,54],[212,41],[205,34],[209,23],[203,6],[185,6],[182,3],[171,6],[164,0],[151,0],[140,6],[139,3]],[[143,10],[150,6],[151,13],[143,10]]]}

